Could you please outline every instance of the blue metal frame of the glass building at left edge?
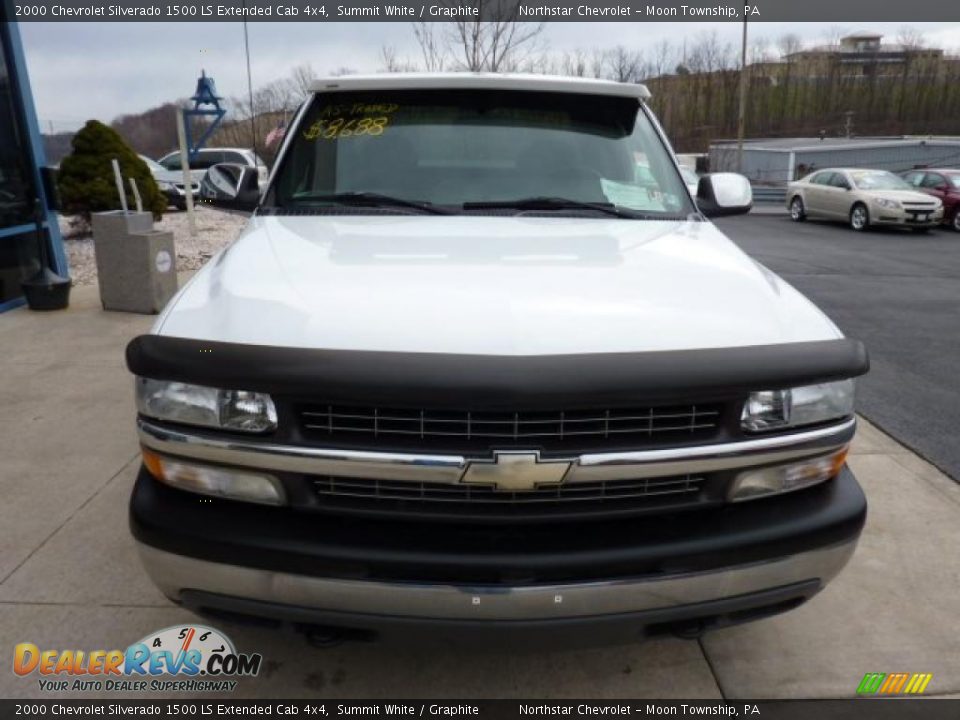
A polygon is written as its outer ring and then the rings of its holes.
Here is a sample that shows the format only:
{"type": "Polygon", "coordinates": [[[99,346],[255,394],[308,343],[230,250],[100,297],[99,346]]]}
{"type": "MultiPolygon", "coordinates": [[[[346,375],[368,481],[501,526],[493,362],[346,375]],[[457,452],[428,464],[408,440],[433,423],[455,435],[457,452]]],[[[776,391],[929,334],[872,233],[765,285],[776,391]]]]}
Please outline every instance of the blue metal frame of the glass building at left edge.
{"type": "MultiPolygon", "coordinates": [[[[40,168],[46,164],[43,151],[43,142],[40,138],[40,128],[37,124],[37,113],[33,104],[33,94],[30,90],[30,80],[27,76],[27,65],[23,55],[23,44],[20,32],[15,22],[7,19],[12,17],[11,5],[8,0],[0,0],[0,52],[4,61],[9,82],[10,111],[12,120],[19,131],[22,142],[16,148],[20,153],[21,166],[26,169],[30,185],[30,192],[39,198],[43,209],[42,227],[44,240],[48,243],[48,256],[51,259],[53,270],[67,276],[67,256],[63,247],[63,238],[60,235],[60,226],[57,215],[51,209],[50,198],[46,196],[40,168]]],[[[36,249],[37,226],[34,222],[22,222],[0,227],[0,244],[16,243],[20,247],[33,246],[36,249]]],[[[8,246],[8,247],[13,247],[8,246]]],[[[39,255],[39,253],[37,253],[39,255]]],[[[36,270],[34,266],[33,270],[36,270]]],[[[24,274],[32,274],[30,268],[24,268],[24,274]]],[[[15,296],[4,300],[0,297],[0,312],[23,305],[22,296],[15,296]]]]}

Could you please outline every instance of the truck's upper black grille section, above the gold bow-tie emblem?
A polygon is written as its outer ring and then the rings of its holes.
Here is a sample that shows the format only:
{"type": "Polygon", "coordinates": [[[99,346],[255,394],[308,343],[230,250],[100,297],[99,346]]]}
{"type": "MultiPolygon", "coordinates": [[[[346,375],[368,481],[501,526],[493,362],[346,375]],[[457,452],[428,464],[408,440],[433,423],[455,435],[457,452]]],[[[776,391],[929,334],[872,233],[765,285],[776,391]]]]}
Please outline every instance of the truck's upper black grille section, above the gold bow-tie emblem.
{"type": "Polygon", "coordinates": [[[470,411],[308,406],[300,412],[307,439],[458,452],[532,447],[586,450],[605,446],[712,437],[718,404],[558,411],[470,411]]]}

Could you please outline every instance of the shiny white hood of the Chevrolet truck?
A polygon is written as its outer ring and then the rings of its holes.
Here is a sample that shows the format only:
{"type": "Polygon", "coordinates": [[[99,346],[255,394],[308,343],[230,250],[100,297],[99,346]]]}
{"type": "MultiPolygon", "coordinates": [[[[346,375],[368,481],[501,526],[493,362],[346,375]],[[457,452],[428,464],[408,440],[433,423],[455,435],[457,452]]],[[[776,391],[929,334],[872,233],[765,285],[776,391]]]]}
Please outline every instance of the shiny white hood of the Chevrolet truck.
{"type": "Polygon", "coordinates": [[[254,217],[154,332],[482,355],[840,336],[712,223],[420,215],[254,217]]]}

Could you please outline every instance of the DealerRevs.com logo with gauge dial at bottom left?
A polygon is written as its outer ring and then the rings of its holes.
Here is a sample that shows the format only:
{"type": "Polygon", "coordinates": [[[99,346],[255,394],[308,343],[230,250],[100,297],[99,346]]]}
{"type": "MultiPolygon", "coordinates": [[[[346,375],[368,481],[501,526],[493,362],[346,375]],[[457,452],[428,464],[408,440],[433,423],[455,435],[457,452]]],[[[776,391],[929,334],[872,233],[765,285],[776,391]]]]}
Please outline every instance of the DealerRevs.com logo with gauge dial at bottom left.
{"type": "Polygon", "coordinates": [[[13,672],[37,677],[46,692],[224,692],[236,677],[260,672],[263,656],[238,653],[226,635],[204,625],[176,625],[126,650],[42,650],[17,644],[13,672]]]}

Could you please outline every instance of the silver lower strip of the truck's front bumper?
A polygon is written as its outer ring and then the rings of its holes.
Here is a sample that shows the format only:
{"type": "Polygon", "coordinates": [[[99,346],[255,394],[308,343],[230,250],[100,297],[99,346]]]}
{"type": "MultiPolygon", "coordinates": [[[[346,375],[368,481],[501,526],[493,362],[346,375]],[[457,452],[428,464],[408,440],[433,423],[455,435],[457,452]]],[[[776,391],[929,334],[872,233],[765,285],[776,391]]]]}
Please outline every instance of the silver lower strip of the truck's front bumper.
{"type": "Polygon", "coordinates": [[[183,590],[320,611],[430,620],[555,620],[673,608],[819,580],[846,565],[856,540],[781,559],[663,578],[550,586],[387,583],[317,578],[223,565],[140,544],[153,582],[173,600],[183,590]]]}

